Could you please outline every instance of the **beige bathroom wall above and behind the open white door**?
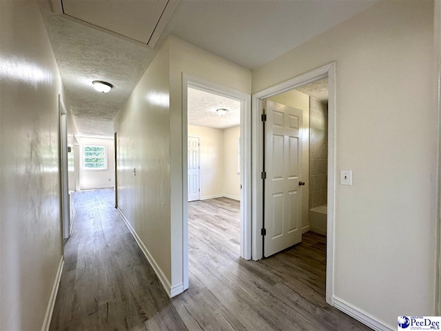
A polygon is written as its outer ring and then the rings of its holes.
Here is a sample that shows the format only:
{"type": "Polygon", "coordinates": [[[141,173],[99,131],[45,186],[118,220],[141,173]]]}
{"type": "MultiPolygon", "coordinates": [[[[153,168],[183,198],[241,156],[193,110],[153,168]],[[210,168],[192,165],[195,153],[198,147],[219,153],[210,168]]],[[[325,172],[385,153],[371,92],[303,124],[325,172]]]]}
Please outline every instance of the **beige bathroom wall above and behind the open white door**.
{"type": "Polygon", "coordinates": [[[302,229],[309,227],[309,96],[296,90],[280,93],[268,100],[302,110],[302,229]]]}

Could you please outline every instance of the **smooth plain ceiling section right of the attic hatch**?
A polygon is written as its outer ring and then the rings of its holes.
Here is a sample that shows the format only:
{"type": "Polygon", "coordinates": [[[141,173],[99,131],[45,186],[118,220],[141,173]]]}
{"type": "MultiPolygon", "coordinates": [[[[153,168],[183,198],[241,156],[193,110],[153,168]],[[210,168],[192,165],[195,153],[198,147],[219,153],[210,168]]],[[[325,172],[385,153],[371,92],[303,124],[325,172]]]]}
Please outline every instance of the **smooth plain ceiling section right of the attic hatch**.
{"type": "Polygon", "coordinates": [[[181,0],[167,30],[253,69],[378,0],[181,0]]]}

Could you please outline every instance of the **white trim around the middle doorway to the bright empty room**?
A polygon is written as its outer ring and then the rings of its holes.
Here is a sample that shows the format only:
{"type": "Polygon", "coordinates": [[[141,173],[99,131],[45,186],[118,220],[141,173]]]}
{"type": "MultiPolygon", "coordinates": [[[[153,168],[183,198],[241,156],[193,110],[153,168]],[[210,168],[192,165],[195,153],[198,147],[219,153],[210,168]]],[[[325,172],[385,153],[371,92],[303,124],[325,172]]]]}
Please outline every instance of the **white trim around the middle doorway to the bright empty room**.
{"type": "Polygon", "coordinates": [[[187,201],[187,88],[197,88],[205,92],[218,94],[223,97],[240,101],[240,190],[241,205],[240,210],[240,257],[243,259],[252,258],[252,169],[251,169],[251,96],[249,94],[222,86],[210,81],[205,81],[189,74],[183,74],[183,287],[188,288],[188,201],[187,201]]]}

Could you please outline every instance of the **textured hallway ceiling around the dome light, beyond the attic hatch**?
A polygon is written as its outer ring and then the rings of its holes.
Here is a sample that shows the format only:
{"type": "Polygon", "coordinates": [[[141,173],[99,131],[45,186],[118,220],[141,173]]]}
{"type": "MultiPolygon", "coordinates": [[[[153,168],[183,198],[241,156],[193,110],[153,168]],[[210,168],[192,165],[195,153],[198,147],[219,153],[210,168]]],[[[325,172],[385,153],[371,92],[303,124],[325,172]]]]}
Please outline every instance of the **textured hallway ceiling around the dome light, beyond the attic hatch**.
{"type": "Polygon", "coordinates": [[[52,14],[43,19],[80,134],[113,137],[113,120],[147,69],[154,51],[52,14]],[[96,92],[92,81],[114,88],[96,92]]]}

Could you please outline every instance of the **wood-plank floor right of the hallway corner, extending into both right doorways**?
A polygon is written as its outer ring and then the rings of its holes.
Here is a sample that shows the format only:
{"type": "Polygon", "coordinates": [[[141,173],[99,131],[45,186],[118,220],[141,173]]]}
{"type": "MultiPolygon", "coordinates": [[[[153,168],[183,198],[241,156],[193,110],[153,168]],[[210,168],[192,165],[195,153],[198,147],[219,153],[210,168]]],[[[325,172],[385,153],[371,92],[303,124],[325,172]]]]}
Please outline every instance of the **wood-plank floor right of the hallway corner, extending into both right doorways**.
{"type": "Polygon", "coordinates": [[[326,237],[260,261],[239,257],[239,203],[189,203],[189,290],[172,299],[189,330],[371,330],[325,302],[326,237]]]}

